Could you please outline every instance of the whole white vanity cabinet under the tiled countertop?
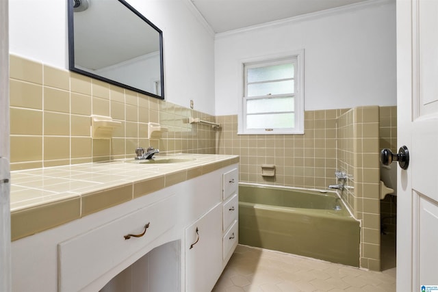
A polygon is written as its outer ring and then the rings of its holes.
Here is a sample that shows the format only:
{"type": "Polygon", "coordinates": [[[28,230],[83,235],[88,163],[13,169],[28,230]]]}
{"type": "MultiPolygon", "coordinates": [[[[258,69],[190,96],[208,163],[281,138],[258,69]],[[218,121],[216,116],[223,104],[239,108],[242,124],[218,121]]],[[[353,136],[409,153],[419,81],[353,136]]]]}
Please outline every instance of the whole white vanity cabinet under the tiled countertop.
{"type": "Polygon", "coordinates": [[[211,291],[237,245],[237,207],[235,163],[12,241],[12,289],[211,291]]]}

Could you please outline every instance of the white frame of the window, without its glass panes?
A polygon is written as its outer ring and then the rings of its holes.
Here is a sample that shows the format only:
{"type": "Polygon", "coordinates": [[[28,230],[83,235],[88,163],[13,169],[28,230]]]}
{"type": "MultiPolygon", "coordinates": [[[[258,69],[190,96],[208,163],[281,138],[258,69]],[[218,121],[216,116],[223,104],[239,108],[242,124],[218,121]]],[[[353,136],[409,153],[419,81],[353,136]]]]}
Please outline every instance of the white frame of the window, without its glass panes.
{"type": "Polygon", "coordinates": [[[242,72],[242,87],[237,114],[237,135],[282,135],[282,134],[303,134],[304,133],[304,50],[290,52],[275,56],[265,56],[253,59],[245,59],[240,62],[242,72]],[[246,96],[246,71],[245,66],[253,64],[268,64],[282,62],[285,59],[292,59],[294,63],[294,94],[279,94],[272,97],[294,96],[295,127],[281,129],[247,129],[246,127],[246,101],[255,98],[269,98],[266,96],[246,96]]]}

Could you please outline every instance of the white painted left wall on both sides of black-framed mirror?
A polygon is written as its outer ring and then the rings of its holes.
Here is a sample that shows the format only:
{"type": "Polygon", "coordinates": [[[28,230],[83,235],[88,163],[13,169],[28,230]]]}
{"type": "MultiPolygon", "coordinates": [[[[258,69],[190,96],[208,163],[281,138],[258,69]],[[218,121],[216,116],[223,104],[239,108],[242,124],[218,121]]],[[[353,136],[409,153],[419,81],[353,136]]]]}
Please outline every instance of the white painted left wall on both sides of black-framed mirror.
{"type": "MultiPolygon", "coordinates": [[[[188,0],[128,0],[163,31],[166,101],[214,114],[214,36],[188,0]]],[[[10,53],[68,68],[66,0],[10,0],[10,53]]]]}

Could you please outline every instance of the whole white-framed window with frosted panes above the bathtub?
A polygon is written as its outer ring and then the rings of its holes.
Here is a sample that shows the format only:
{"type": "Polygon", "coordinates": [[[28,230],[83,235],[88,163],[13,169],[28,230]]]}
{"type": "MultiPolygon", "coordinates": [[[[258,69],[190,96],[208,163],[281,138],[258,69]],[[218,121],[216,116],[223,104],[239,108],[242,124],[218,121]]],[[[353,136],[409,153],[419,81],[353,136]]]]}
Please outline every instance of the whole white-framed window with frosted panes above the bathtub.
{"type": "Polygon", "coordinates": [[[239,134],[304,133],[303,51],[245,62],[239,134]]]}

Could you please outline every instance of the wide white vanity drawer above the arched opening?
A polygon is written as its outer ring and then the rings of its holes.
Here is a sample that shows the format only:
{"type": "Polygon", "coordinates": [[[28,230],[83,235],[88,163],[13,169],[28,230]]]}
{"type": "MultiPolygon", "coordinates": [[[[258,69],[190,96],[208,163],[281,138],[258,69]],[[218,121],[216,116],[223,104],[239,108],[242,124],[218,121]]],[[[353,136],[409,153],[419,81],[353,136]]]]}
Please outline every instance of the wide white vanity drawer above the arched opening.
{"type": "Polygon", "coordinates": [[[177,212],[177,199],[170,196],[58,244],[59,291],[80,291],[146,247],[175,226],[177,212]],[[145,230],[142,237],[125,239],[145,230]]]}

